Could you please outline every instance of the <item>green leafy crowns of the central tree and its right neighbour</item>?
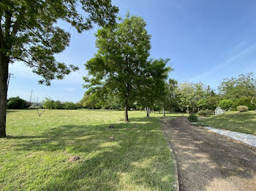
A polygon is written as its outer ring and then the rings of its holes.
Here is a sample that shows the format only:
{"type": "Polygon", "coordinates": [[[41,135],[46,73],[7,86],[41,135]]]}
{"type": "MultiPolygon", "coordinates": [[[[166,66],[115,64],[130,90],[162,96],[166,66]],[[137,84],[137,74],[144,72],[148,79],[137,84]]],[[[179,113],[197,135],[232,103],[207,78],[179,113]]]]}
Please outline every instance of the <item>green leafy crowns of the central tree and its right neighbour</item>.
{"type": "Polygon", "coordinates": [[[135,102],[153,106],[159,92],[165,91],[163,79],[170,69],[165,66],[168,59],[148,61],[151,36],[143,18],[127,15],[114,28],[99,29],[96,36],[97,54],[85,64],[90,99],[96,95],[96,103],[106,103],[106,95],[115,95],[126,111],[135,102]]]}

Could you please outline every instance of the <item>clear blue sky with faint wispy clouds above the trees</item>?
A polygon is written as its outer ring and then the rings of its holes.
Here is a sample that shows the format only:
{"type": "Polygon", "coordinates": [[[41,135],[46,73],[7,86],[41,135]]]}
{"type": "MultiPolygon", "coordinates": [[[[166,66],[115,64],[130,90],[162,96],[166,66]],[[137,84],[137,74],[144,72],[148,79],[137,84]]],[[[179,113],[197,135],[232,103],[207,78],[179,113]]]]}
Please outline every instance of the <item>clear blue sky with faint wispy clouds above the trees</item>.
{"type": "MultiPolygon", "coordinates": [[[[114,0],[118,16],[143,17],[151,34],[151,58],[170,58],[174,70],[170,78],[178,82],[203,82],[217,90],[224,78],[253,72],[256,76],[256,1],[248,0],[114,0]]],[[[10,66],[8,97],[32,101],[45,97],[77,102],[83,98],[84,63],[93,58],[95,32],[78,34],[67,23],[59,26],[70,31],[69,47],[56,55],[58,61],[80,68],[49,87],[23,63],[10,66]]]]}

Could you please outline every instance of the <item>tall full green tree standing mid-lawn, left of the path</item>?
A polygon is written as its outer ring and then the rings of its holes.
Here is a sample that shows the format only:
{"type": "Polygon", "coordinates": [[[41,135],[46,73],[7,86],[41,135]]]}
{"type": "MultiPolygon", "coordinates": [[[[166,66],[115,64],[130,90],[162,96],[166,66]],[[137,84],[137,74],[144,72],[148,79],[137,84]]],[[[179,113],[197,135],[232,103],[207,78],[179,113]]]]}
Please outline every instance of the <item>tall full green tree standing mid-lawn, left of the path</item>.
{"type": "Polygon", "coordinates": [[[91,75],[85,78],[86,87],[106,87],[116,93],[124,106],[124,121],[128,122],[128,109],[142,85],[151,48],[146,23],[127,14],[115,27],[99,29],[96,36],[98,51],[85,64],[91,75]]]}

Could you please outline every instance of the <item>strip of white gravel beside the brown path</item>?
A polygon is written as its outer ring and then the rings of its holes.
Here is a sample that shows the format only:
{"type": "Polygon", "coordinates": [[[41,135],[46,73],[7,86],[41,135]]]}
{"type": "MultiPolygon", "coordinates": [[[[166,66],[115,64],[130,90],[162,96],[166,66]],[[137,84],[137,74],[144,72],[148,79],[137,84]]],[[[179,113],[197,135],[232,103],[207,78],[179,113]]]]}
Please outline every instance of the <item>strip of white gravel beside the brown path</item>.
{"type": "Polygon", "coordinates": [[[215,133],[219,133],[223,136],[230,137],[237,141],[244,142],[245,144],[249,144],[252,147],[256,147],[256,136],[249,135],[246,133],[238,133],[238,132],[234,132],[234,131],[230,131],[230,130],[222,130],[222,129],[218,129],[218,128],[212,128],[212,127],[203,127],[203,128],[212,130],[215,133]]]}

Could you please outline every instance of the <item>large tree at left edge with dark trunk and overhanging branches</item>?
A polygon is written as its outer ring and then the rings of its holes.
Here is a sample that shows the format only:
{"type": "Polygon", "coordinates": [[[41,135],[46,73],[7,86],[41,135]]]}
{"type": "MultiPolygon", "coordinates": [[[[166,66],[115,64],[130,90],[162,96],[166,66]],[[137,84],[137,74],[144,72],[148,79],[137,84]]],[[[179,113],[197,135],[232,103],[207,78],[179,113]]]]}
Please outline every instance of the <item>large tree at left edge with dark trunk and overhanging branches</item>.
{"type": "Polygon", "coordinates": [[[54,55],[69,45],[70,34],[56,26],[63,20],[78,33],[94,23],[116,23],[118,8],[110,0],[1,0],[0,1],[0,137],[6,136],[9,64],[22,61],[42,77],[40,84],[63,79],[78,68],[56,61],[54,55]],[[85,14],[78,12],[83,10],[85,14]]]}

